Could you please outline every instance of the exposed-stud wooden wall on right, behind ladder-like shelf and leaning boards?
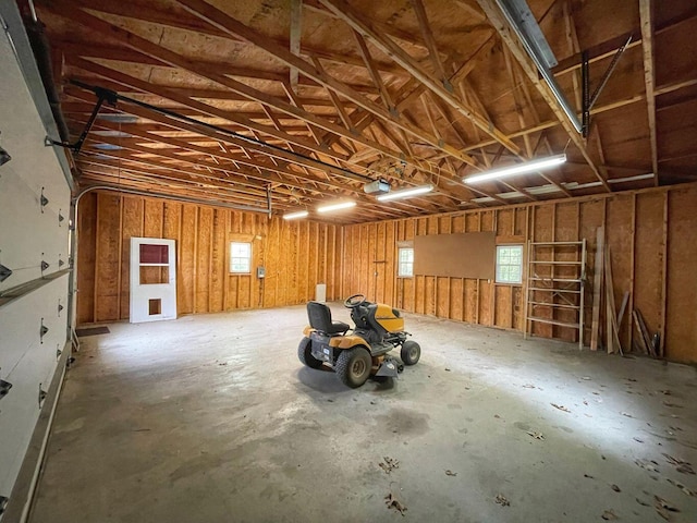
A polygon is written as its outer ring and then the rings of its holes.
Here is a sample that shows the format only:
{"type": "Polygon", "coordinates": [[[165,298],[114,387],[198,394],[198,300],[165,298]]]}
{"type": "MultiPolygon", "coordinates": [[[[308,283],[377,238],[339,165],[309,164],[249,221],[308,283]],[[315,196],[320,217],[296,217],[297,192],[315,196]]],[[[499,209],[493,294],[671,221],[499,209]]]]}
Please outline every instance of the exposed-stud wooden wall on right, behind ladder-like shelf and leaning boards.
{"type": "MultiPolygon", "coordinates": [[[[592,284],[596,230],[604,224],[612,254],[615,303],[629,292],[620,328],[625,351],[636,336],[627,318],[639,309],[651,333],[661,337],[669,360],[697,363],[697,184],[657,187],[571,202],[348,226],[343,229],[342,295],[363,292],[407,312],[491,327],[524,329],[523,285],[493,280],[396,277],[396,242],[419,234],[493,231],[497,243],[588,241],[592,284]],[[377,273],[377,276],[376,276],[377,273]]],[[[591,292],[587,294],[586,340],[590,340],[591,292]]],[[[548,314],[552,314],[548,311],[548,314]]],[[[558,319],[568,312],[554,312],[558,319]]],[[[604,321],[604,319],[602,320],[604,321]]],[[[601,321],[601,323],[602,323],[601,321]]],[[[574,341],[577,331],[534,325],[534,333],[574,341]]]]}

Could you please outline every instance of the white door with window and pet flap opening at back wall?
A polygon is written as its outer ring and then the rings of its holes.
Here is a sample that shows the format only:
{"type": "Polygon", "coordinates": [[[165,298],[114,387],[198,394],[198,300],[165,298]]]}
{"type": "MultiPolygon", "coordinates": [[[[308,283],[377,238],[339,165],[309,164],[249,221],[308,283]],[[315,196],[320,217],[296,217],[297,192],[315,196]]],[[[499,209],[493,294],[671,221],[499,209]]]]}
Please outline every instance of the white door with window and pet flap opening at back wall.
{"type": "Polygon", "coordinates": [[[131,323],[176,318],[174,240],[131,239],[131,323]]]}

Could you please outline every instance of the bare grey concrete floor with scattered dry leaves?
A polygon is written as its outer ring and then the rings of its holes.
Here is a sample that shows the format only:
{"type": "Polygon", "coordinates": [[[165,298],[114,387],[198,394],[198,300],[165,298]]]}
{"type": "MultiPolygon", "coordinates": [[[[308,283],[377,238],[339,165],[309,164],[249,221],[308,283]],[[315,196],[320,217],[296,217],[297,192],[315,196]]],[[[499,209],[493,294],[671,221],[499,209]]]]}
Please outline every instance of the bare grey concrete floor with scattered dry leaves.
{"type": "Polygon", "coordinates": [[[697,469],[695,368],[406,315],[419,364],[351,390],[301,366],[305,324],[296,306],[85,338],[30,521],[662,522],[661,498],[697,521],[697,476],[667,458],[697,469]]]}

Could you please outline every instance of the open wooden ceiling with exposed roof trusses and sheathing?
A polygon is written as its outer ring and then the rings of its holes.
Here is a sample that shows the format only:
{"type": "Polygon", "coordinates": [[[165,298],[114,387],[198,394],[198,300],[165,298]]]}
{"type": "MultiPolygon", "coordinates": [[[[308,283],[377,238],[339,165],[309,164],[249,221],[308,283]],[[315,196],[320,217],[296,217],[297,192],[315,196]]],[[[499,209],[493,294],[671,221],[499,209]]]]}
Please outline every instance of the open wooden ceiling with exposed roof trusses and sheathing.
{"type": "Polygon", "coordinates": [[[97,101],[74,81],[209,124],[127,100],[105,105],[75,157],[81,187],[259,209],[270,198],[281,214],[350,198],[357,207],[329,219],[351,223],[697,178],[694,0],[528,1],[578,111],[582,51],[592,92],[632,36],[587,138],[493,0],[35,4],[73,139],[97,101]],[[555,170],[462,183],[562,151],[568,161],[555,170]],[[393,190],[436,191],[379,203],[363,191],[379,178],[393,190]]]}

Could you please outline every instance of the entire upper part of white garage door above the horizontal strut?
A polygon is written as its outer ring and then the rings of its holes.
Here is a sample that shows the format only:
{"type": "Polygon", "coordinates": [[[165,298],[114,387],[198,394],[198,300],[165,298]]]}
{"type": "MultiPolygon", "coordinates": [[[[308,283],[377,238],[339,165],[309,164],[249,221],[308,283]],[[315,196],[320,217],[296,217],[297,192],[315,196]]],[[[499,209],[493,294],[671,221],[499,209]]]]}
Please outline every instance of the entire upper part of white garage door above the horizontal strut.
{"type": "Polygon", "coordinates": [[[0,264],[13,270],[3,290],[40,277],[42,257],[48,272],[59,270],[59,255],[68,263],[70,188],[56,151],[44,145],[44,124],[4,35],[0,71],[0,146],[12,157],[0,167],[0,264]],[[44,212],[41,187],[49,200],[44,212]],[[60,227],[59,211],[65,217],[60,227]]]}

